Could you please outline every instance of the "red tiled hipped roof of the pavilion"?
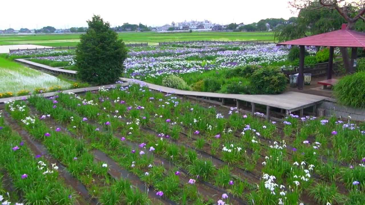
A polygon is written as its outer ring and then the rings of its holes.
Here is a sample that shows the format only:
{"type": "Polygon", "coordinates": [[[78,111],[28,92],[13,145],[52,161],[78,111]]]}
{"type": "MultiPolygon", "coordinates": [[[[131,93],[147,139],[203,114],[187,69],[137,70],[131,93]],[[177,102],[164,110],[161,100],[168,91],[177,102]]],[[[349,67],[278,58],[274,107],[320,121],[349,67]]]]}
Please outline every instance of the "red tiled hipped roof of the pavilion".
{"type": "Polygon", "coordinates": [[[277,45],[365,47],[365,33],[348,30],[346,24],[342,24],[341,30],[289,40],[277,45]]]}

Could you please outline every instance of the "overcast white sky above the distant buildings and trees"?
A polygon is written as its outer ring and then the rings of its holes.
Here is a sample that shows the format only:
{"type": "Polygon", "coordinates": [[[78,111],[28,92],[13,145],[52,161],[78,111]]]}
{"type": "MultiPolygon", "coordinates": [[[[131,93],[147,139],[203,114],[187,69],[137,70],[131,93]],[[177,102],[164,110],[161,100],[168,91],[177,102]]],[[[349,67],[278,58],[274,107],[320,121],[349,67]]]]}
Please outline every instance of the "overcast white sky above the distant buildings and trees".
{"type": "Polygon", "coordinates": [[[111,23],[162,26],[184,20],[212,23],[258,22],[266,18],[295,16],[288,0],[3,0],[0,29],[69,28],[87,26],[93,14],[111,23]]]}

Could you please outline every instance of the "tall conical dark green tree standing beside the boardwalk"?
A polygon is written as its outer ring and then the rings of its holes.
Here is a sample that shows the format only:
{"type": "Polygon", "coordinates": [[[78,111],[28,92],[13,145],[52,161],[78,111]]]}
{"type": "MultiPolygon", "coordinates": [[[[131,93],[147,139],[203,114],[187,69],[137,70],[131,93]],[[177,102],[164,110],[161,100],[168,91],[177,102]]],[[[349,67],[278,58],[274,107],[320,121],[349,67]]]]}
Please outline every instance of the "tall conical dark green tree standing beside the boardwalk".
{"type": "Polygon", "coordinates": [[[77,77],[93,85],[115,83],[124,72],[127,49],[110,24],[94,15],[76,46],[77,77]]]}

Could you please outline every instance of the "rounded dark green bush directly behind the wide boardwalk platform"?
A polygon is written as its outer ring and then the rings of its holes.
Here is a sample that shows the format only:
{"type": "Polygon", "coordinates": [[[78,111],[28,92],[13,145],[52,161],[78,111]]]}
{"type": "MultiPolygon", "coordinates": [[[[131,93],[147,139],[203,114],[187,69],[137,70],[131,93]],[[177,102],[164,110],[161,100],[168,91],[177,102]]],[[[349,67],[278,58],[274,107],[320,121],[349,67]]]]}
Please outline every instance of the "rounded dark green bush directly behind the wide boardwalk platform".
{"type": "Polygon", "coordinates": [[[287,87],[288,78],[275,67],[261,67],[251,75],[251,94],[277,94],[287,87]]]}

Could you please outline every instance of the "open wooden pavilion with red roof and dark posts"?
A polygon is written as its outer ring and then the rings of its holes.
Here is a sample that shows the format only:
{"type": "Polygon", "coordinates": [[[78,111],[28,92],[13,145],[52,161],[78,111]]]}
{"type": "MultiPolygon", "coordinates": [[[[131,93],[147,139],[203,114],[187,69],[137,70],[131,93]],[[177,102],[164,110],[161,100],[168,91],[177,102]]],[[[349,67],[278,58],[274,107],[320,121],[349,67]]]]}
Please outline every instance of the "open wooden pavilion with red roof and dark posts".
{"type": "Polygon", "coordinates": [[[297,78],[298,89],[303,89],[304,84],[304,46],[329,46],[330,57],[327,66],[327,80],[332,78],[333,67],[333,53],[335,47],[351,47],[351,66],[353,60],[356,58],[357,48],[365,47],[365,33],[349,30],[346,28],[347,24],[342,24],[341,30],[331,31],[324,34],[318,34],[299,38],[296,40],[289,40],[278,43],[277,45],[297,45],[300,48],[299,54],[299,76],[297,78]]]}

